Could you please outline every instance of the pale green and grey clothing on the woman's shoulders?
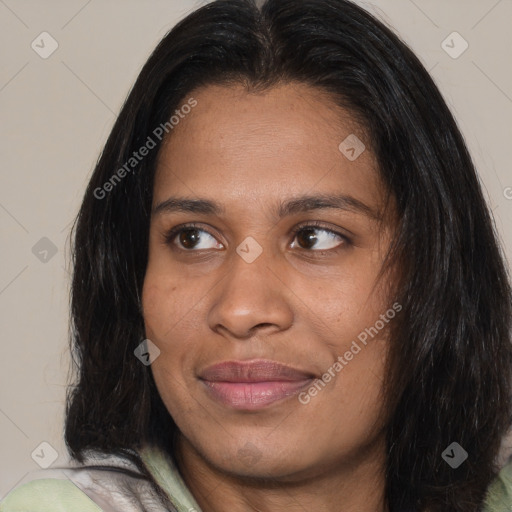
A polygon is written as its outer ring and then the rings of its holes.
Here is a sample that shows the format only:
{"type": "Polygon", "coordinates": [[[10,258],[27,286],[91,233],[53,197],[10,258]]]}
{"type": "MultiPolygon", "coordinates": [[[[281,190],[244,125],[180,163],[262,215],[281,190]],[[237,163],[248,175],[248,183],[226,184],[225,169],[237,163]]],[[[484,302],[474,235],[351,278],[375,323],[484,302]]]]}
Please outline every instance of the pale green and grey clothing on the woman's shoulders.
{"type": "MultiPolygon", "coordinates": [[[[146,447],[140,456],[165,491],[177,512],[201,512],[172,459],[146,447]]],[[[167,512],[150,484],[122,469],[138,472],[135,465],[116,456],[91,456],[87,464],[34,473],[30,482],[11,491],[0,512],[167,512]]],[[[512,511],[512,459],[488,489],[483,512],[512,511]]]]}

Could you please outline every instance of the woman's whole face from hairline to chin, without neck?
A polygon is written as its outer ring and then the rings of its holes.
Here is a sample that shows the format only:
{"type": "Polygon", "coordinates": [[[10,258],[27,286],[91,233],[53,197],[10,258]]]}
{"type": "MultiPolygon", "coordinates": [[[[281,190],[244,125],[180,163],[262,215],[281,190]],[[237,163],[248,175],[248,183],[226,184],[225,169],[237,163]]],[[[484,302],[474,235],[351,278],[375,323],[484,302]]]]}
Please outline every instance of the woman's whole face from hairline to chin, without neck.
{"type": "Polygon", "coordinates": [[[159,155],[143,290],[182,452],[273,478],[375,460],[396,311],[375,159],[339,148],[364,132],[302,84],[192,96],[159,155]]]}

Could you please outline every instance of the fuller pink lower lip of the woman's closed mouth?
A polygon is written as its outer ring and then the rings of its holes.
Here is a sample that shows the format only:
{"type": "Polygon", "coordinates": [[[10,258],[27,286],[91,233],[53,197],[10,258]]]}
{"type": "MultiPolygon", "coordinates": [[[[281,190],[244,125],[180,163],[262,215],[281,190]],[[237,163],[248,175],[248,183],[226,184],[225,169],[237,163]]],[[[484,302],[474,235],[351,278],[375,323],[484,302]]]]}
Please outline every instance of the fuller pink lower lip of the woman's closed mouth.
{"type": "Polygon", "coordinates": [[[313,379],[271,382],[203,381],[210,396],[233,409],[261,409],[283,400],[311,384],[313,379]]]}

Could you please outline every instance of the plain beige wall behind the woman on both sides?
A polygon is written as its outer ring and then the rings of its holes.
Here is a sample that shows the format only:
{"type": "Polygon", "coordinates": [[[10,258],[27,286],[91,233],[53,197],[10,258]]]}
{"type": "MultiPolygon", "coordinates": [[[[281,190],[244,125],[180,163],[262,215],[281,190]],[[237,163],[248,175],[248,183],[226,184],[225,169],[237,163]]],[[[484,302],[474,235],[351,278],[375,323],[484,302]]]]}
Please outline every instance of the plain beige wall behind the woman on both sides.
{"type": "MultiPolygon", "coordinates": [[[[36,462],[49,462],[52,449],[53,465],[68,460],[69,228],[141,66],[203,3],[0,0],[0,498],[39,469],[36,462]],[[40,54],[55,43],[42,32],[58,44],[45,59],[40,54]]],[[[358,3],[431,71],[479,169],[510,261],[512,0],[358,3]]]]}

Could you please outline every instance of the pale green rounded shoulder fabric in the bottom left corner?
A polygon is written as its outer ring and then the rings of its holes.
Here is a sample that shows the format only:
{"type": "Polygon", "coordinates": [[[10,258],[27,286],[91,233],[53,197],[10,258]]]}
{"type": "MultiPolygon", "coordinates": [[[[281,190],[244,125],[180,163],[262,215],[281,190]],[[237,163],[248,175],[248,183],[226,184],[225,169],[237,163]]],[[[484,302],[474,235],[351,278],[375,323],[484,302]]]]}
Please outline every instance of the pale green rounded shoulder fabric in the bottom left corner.
{"type": "Polygon", "coordinates": [[[70,480],[44,478],[21,485],[0,503],[0,512],[101,512],[70,480]]]}

